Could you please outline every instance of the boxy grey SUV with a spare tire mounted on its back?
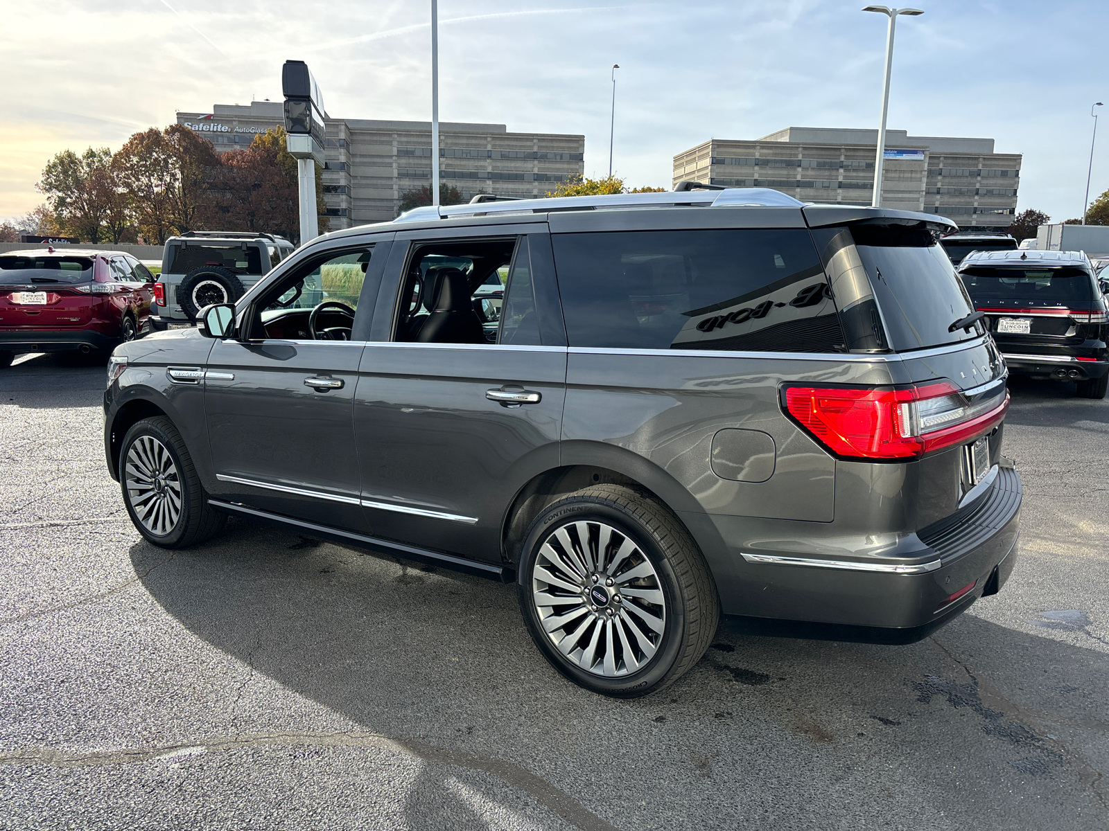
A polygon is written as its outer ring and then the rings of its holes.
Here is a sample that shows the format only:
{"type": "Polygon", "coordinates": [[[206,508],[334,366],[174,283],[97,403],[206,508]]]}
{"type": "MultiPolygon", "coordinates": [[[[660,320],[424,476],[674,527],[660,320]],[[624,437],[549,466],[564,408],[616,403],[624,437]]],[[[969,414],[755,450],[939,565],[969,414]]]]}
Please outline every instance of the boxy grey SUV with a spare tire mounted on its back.
{"type": "Polygon", "coordinates": [[[155,286],[152,326],[157,330],[192,326],[200,308],[235,302],[292,253],[292,243],[272,234],[191,230],[170,237],[155,286]]]}

